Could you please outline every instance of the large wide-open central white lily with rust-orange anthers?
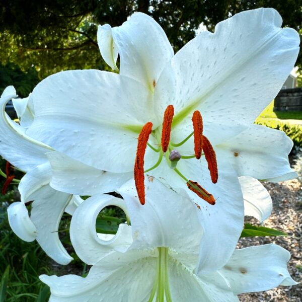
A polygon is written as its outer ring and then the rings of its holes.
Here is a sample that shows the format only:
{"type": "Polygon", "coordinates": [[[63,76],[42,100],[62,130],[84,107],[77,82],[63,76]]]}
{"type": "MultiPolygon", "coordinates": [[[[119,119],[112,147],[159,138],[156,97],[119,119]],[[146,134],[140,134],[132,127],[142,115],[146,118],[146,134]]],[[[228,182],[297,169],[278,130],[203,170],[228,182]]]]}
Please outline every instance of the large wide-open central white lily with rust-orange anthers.
{"type": "Polygon", "coordinates": [[[101,173],[106,171],[104,178],[115,183],[118,174],[132,177],[135,168],[143,203],[143,170],[150,171],[173,188],[187,190],[202,208],[204,236],[212,242],[204,249],[215,253],[225,247],[225,257],[216,262],[221,267],[220,260],[230,258],[240,236],[242,196],[234,193],[240,191],[238,177],[296,175],[287,159],[290,139],[253,125],[298,53],[298,34],[281,29],[281,23],[273,9],[239,13],[220,22],[214,34],[200,33],[176,55],[162,28],[147,15],[134,14],[120,27],[100,27],[101,53],[117,69],[118,50],[119,74],[64,71],[33,91],[35,119],[27,134],[60,152],[50,159],[56,170],[52,186],[79,195],[104,193],[98,189],[101,173]],[[169,158],[174,148],[182,157],[177,168],[169,158]],[[216,223],[229,230],[228,237],[218,240],[216,223]]]}

